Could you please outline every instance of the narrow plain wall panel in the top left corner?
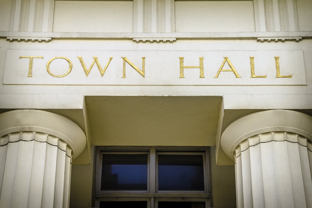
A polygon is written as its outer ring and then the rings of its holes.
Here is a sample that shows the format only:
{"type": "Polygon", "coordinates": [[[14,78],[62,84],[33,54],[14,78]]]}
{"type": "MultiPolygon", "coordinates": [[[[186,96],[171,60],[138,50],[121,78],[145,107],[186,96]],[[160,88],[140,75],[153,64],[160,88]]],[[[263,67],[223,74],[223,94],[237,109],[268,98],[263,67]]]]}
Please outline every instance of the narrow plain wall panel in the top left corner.
{"type": "Polygon", "coordinates": [[[0,31],[10,30],[12,0],[0,0],[0,31]]]}

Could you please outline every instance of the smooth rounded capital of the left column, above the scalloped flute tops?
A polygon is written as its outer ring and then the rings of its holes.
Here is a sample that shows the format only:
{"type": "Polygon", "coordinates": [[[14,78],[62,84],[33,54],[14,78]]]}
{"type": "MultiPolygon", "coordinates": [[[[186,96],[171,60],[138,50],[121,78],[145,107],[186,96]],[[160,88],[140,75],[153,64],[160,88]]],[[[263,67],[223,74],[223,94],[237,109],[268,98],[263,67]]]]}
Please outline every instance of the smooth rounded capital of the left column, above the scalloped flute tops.
{"type": "MultiPolygon", "coordinates": [[[[41,110],[15,110],[0,114],[0,137],[13,132],[41,132],[65,141],[73,151],[73,159],[84,150],[86,137],[81,128],[68,118],[41,110]]],[[[10,141],[15,137],[1,143],[10,141]]],[[[22,137],[18,137],[22,140],[22,137]]],[[[33,139],[35,137],[32,137],[33,139]]],[[[5,145],[5,144],[0,144],[5,145]]]]}

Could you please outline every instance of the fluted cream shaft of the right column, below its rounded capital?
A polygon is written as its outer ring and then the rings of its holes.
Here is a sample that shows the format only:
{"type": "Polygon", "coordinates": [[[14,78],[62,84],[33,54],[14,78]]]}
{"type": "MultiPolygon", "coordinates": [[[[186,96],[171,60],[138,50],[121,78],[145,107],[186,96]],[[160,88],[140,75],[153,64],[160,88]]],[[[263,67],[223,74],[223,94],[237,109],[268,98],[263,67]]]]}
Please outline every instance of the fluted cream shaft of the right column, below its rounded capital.
{"type": "Polygon", "coordinates": [[[251,136],[233,152],[237,207],[312,207],[312,142],[273,131],[251,136]]]}

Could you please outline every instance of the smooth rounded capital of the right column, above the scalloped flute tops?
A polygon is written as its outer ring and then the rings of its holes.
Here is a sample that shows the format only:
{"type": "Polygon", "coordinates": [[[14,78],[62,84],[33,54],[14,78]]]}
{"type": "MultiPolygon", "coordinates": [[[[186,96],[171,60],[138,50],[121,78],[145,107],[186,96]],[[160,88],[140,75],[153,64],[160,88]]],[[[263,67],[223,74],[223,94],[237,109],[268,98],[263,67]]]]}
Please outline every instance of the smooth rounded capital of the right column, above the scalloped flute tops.
{"type": "MultiPolygon", "coordinates": [[[[312,116],[290,110],[260,111],[243,116],[224,130],[221,136],[221,147],[225,154],[234,160],[233,152],[242,141],[263,133],[280,131],[295,133],[312,141],[312,116]]],[[[263,138],[267,140],[269,137],[263,138]]],[[[277,137],[273,135],[270,138],[270,141],[275,141],[277,137]]],[[[283,138],[287,141],[293,140],[293,136],[285,135],[283,138]]],[[[262,142],[260,139],[259,137],[258,143],[262,142]]]]}

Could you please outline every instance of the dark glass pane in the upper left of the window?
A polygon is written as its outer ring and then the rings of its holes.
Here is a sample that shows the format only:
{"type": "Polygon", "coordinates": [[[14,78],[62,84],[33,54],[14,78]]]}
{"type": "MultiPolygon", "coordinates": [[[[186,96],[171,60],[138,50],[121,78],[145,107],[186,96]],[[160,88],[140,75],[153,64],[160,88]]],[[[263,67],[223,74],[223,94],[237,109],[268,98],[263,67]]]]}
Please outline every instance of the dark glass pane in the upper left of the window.
{"type": "Polygon", "coordinates": [[[147,190],[147,154],[103,154],[101,190],[147,190]]]}

